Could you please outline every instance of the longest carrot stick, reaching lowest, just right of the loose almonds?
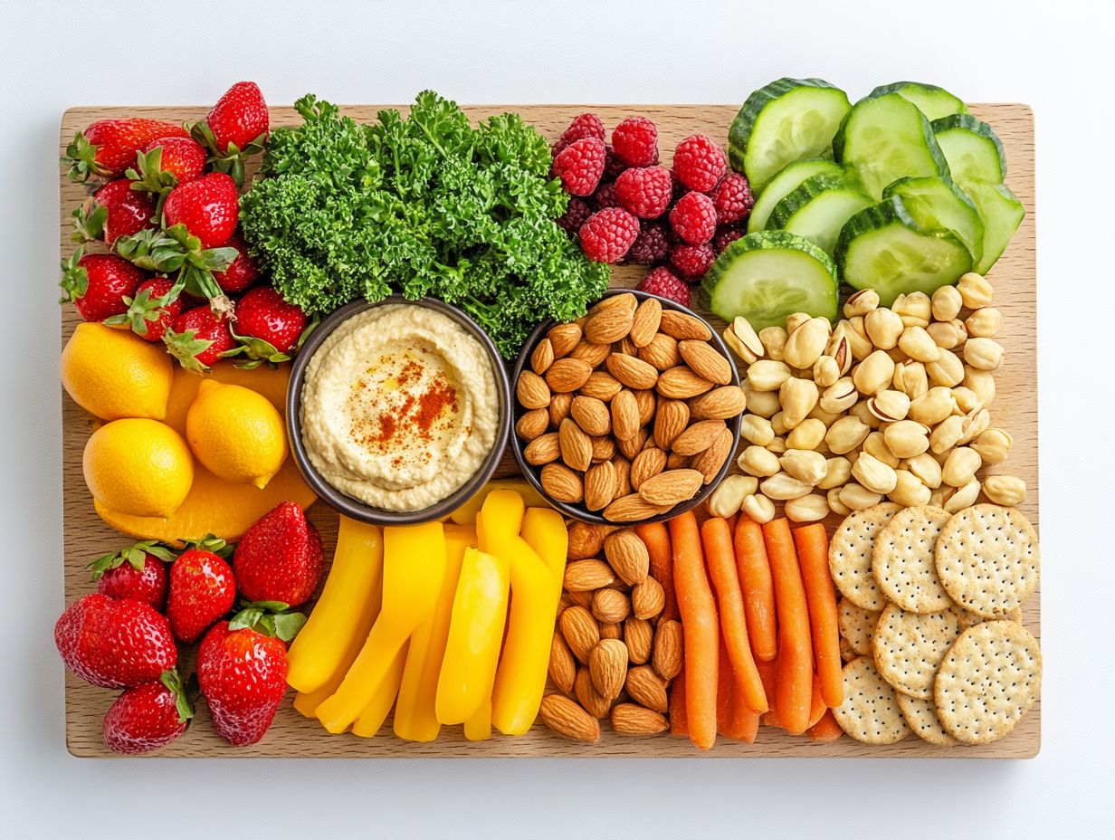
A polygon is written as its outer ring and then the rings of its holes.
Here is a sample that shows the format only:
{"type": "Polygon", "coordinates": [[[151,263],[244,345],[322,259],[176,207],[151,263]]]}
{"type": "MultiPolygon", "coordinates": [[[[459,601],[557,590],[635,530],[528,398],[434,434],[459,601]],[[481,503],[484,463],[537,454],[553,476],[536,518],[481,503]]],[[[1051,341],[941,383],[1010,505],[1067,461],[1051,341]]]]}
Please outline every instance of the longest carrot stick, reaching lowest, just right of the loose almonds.
{"type": "Polygon", "coordinates": [[[670,520],[673,586],[685,641],[686,720],[689,740],[701,750],[716,741],[716,688],[720,622],[705,573],[700,533],[692,511],[670,520]]]}

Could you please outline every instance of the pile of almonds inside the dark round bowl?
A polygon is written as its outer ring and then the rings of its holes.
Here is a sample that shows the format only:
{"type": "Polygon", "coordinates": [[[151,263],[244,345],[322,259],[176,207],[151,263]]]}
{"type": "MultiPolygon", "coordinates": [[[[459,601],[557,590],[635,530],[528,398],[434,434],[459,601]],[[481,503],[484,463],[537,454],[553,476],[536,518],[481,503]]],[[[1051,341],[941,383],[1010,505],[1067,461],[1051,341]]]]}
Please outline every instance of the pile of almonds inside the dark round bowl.
{"type": "Polygon", "coordinates": [[[630,292],[553,327],[515,386],[515,431],[554,500],[612,522],[668,512],[731,455],[744,411],[731,363],[700,318],[630,292]]]}

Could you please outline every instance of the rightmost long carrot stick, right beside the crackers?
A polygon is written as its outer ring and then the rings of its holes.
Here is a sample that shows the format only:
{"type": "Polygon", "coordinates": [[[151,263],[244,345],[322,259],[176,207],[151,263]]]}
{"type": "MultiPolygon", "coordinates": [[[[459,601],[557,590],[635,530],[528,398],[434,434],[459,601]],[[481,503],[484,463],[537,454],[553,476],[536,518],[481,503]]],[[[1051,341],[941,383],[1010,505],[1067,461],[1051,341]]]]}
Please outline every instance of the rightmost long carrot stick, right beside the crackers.
{"type": "Polygon", "coordinates": [[[835,708],[844,702],[843,663],[840,658],[840,629],[836,620],[836,589],[828,571],[828,535],[821,522],[794,531],[797,562],[809,609],[813,658],[825,705],[835,708]]]}

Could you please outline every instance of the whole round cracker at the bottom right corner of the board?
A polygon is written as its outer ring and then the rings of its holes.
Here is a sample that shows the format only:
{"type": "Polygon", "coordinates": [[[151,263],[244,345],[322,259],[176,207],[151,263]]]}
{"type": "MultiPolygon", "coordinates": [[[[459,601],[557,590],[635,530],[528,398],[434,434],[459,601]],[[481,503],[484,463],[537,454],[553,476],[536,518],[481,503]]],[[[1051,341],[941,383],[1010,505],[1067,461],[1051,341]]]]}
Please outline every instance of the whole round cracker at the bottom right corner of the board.
{"type": "Polygon", "coordinates": [[[1015,621],[985,621],[960,634],[933,686],[937,715],[966,744],[1006,737],[1041,691],[1041,649],[1015,621]]]}

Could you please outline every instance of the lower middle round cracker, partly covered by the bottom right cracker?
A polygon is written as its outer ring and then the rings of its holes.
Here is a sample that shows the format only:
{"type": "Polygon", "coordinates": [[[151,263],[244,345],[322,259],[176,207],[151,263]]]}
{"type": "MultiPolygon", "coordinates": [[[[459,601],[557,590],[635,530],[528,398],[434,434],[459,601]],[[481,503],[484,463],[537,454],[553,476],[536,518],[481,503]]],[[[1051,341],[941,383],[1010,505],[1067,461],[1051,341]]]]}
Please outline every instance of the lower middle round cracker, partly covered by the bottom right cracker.
{"type": "Polygon", "coordinates": [[[890,605],[875,626],[871,649],[879,675],[902,694],[933,696],[933,677],[960,635],[957,614],[920,615],[890,605]]]}

